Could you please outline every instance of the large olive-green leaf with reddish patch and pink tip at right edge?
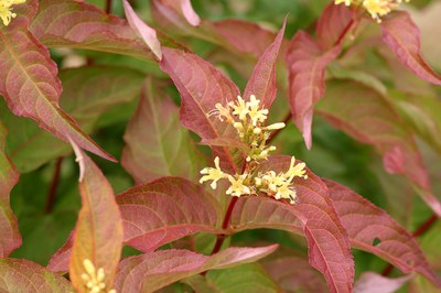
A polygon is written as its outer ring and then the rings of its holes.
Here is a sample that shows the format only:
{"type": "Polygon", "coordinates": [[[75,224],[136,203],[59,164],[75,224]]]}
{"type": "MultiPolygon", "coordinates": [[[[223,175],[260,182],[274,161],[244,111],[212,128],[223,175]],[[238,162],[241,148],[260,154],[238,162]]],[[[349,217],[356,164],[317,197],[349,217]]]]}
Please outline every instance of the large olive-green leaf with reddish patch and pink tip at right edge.
{"type": "Polygon", "coordinates": [[[385,97],[357,83],[333,83],[318,112],[354,139],[375,146],[386,171],[409,178],[424,202],[441,215],[415,139],[385,97]]]}

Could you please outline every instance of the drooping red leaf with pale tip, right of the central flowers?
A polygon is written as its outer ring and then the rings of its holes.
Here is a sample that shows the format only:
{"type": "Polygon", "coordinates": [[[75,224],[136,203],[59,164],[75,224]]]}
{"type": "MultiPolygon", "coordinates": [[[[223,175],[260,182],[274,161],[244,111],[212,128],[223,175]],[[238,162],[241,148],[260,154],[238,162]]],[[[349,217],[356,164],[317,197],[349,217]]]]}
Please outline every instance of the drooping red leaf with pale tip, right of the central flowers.
{"type": "Polygon", "coordinates": [[[314,106],[325,91],[326,66],[336,58],[341,51],[340,45],[326,52],[322,51],[320,45],[303,31],[295,34],[288,48],[291,112],[308,149],[312,144],[311,126],[314,106]]]}

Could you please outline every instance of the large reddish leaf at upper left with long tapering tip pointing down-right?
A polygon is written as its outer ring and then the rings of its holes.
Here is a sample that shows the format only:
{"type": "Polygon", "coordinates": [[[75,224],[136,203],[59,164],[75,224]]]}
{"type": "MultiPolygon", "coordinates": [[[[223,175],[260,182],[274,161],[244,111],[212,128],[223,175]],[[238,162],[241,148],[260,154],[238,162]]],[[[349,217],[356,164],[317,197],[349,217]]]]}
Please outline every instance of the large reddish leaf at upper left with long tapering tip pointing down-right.
{"type": "Polygon", "coordinates": [[[56,64],[25,25],[25,17],[19,15],[10,26],[0,28],[0,94],[9,108],[60,139],[71,138],[80,148],[115,161],[58,107],[62,86],[56,64]]]}

